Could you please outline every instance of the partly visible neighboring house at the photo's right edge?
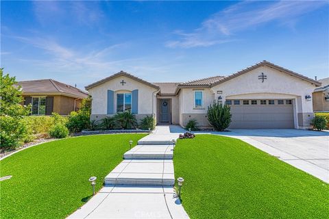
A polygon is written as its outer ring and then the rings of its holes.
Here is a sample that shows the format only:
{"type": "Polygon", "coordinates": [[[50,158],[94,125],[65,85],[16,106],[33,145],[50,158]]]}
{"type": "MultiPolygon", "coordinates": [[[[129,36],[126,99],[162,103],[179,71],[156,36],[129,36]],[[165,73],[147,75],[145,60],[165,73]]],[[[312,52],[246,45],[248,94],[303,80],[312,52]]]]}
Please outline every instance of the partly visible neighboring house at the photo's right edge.
{"type": "Polygon", "coordinates": [[[329,77],[319,80],[321,87],[313,92],[313,111],[329,112],[329,77]]]}

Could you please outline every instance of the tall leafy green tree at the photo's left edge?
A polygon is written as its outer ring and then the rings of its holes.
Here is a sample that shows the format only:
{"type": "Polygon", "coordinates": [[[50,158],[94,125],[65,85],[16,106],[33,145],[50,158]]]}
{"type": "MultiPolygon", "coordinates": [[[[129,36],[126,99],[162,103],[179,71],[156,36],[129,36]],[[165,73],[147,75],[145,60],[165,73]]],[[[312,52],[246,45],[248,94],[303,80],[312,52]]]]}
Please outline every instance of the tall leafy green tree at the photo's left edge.
{"type": "Polygon", "coordinates": [[[16,78],[3,75],[0,68],[0,141],[1,149],[14,149],[23,142],[32,140],[23,116],[30,112],[31,105],[23,106],[21,87],[16,86],[16,78]]]}

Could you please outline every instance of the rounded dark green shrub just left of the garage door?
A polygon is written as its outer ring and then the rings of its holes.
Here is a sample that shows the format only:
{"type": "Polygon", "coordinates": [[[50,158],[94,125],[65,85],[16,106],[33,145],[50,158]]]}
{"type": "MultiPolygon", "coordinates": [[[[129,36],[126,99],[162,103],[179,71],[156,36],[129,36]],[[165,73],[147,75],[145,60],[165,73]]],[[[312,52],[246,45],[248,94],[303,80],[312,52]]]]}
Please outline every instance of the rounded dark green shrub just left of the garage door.
{"type": "Polygon", "coordinates": [[[231,110],[229,105],[213,103],[208,106],[208,121],[216,131],[224,131],[231,123],[231,110]]]}

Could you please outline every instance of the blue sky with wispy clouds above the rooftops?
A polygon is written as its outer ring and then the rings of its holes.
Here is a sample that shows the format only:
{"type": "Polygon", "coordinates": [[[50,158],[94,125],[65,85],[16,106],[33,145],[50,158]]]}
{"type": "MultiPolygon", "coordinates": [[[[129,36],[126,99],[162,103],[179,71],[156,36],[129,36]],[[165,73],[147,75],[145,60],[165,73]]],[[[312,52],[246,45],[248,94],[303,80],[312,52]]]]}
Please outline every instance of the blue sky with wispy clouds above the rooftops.
{"type": "Polygon", "coordinates": [[[230,75],[267,60],[328,77],[328,1],[1,1],[1,67],[79,88],[230,75]]]}

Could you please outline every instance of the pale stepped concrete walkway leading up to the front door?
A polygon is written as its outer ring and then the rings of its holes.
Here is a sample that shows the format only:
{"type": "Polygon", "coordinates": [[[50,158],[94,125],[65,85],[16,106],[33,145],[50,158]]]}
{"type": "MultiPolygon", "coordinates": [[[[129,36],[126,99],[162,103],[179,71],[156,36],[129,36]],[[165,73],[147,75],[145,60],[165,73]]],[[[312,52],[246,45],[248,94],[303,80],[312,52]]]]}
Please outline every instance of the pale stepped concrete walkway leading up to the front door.
{"type": "Polygon", "coordinates": [[[173,139],[168,126],[123,155],[105,186],[69,218],[188,218],[173,189],[173,139]]]}

